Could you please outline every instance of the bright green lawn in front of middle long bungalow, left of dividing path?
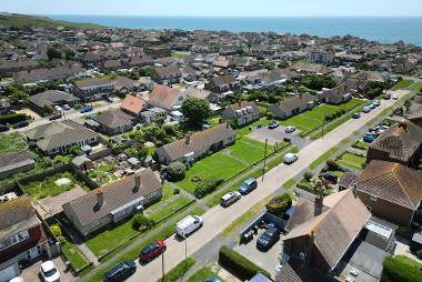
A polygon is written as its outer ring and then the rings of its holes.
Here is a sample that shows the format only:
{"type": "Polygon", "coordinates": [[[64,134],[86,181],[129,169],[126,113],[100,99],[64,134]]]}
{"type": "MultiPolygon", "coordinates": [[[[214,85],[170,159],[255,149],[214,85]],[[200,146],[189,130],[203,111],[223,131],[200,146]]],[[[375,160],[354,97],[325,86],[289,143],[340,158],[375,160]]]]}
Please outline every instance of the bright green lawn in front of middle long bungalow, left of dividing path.
{"type": "Polygon", "coordinates": [[[191,181],[192,177],[213,178],[215,180],[228,179],[245,168],[248,164],[243,162],[223,153],[215,153],[193,163],[192,168],[187,171],[184,179],[175,184],[193,194],[197,183],[191,181]]]}

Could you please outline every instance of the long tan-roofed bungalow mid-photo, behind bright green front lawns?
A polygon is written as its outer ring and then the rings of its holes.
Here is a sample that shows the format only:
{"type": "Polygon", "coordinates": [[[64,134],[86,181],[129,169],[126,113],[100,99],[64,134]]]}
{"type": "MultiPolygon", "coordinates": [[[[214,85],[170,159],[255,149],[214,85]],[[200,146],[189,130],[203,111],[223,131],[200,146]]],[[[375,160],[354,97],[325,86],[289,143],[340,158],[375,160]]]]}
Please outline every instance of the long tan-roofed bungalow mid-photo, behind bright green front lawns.
{"type": "Polygon", "coordinates": [[[219,124],[168,143],[157,149],[161,163],[193,162],[210,150],[220,150],[234,143],[235,131],[228,124],[219,124]]]}

